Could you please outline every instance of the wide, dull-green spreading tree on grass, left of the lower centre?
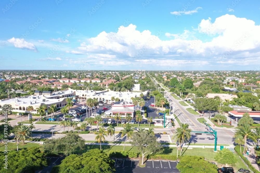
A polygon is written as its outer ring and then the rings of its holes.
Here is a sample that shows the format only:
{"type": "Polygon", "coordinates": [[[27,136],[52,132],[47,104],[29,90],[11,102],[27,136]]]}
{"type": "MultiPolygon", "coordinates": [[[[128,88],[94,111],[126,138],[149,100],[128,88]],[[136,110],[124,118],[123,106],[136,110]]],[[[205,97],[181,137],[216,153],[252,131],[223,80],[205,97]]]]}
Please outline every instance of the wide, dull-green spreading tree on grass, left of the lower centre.
{"type": "Polygon", "coordinates": [[[75,133],[67,133],[58,139],[46,139],[43,149],[46,154],[56,154],[68,156],[75,151],[83,151],[85,140],[75,133]]]}

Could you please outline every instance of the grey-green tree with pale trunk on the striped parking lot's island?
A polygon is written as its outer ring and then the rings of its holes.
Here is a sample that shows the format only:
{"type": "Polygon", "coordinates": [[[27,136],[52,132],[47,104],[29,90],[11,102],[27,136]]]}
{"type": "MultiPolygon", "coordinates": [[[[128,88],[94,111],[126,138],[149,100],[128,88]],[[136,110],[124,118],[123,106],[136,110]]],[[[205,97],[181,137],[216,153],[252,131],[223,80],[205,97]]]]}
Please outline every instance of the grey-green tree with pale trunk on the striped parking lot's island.
{"type": "Polygon", "coordinates": [[[142,153],[142,163],[144,164],[144,157],[148,154],[157,153],[163,150],[160,143],[157,142],[157,137],[148,133],[147,131],[141,131],[140,133],[134,133],[132,135],[130,143],[135,146],[138,151],[142,153]]]}

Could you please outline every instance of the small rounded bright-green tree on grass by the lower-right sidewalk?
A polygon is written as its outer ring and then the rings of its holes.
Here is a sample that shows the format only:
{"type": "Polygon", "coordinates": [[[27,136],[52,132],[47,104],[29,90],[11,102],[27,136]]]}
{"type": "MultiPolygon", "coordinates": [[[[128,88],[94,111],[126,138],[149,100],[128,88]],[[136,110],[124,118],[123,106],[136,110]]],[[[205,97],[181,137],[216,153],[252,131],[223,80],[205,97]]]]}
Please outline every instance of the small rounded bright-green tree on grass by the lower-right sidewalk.
{"type": "Polygon", "coordinates": [[[230,151],[227,148],[223,148],[222,150],[217,152],[217,154],[215,156],[215,161],[222,163],[222,164],[226,164],[226,166],[228,166],[228,164],[237,163],[237,158],[232,153],[232,151],[230,151]]]}

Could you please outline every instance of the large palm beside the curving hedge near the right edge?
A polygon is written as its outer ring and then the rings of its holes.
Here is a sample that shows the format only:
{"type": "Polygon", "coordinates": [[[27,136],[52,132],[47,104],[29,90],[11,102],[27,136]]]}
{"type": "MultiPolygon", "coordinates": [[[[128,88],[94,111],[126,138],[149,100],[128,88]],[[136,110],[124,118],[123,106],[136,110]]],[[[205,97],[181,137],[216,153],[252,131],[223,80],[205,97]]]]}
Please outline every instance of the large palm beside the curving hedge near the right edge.
{"type": "Polygon", "coordinates": [[[256,142],[256,136],[251,131],[251,127],[249,124],[243,124],[243,126],[238,126],[234,137],[236,138],[237,136],[242,136],[245,140],[243,153],[245,152],[247,139],[251,139],[252,141],[256,142]]]}

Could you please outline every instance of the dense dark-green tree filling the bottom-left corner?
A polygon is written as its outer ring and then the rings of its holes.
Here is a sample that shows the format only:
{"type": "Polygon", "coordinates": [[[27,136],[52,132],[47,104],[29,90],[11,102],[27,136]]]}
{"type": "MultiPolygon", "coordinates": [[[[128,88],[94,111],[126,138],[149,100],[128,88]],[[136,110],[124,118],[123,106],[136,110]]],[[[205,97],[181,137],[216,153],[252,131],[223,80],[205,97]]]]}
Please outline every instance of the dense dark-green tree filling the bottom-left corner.
{"type": "MultiPolygon", "coordinates": [[[[5,163],[4,152],[0,153],[0,163],[4,165],[5,163]]],[[[8,151],[8,169],[4,166],[0,168],[1,173],[34,173],[43,167],[47,167],[47,158],[44,157],[44,153],[41,152],[39,147],[31,147],[27,149],[22,149],[20,151],[8,151]],[[9,166],[11,165],[11,166],[9,166]]]]}

